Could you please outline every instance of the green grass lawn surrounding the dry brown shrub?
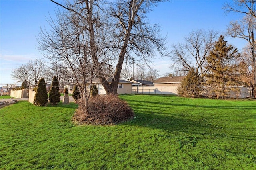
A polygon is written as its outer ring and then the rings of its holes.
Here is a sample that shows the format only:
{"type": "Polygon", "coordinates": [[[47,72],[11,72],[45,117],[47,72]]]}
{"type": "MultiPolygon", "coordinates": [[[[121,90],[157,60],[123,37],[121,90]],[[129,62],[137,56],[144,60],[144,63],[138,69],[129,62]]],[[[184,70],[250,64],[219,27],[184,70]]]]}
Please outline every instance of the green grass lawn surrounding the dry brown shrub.
{"type": "Polygon", "coordinates": [[[74,103],[0,109],[0,169],[256,169],[255,100],[120,98],[136,118],[109,126],[73,125],[74,103]]]}

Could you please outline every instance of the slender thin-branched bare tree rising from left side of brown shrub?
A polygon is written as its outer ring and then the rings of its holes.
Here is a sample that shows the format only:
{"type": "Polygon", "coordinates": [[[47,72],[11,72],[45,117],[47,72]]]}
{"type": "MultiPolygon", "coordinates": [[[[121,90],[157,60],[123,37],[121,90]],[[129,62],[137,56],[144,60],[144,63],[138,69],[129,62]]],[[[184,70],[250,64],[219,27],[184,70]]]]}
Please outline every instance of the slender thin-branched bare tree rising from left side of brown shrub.
{"type": "Polygon", "coordinates": [[[82,26],[83,23],[88,22],[86,16],[88,12],[91,12],[92,6],[90,5],[92,4],[88,4],[88,1],[77,4],[66,3],[67,7],[64,8],[68,11],[58,11],[56,12],[56,20],[48,20],[52,30],[41,30],[38,38],[39,49],[47,52],[43,55],[52,63],[64,62],[66,64],[66,69],[72,74],[70,82],[76,84],[82,93],[81,104],[87,105],[92,78],[96,76],[96,72],[102,68],[106,61],[102,60],[102,63],[99,63],[92,59],[97,55],[97,51],[99,53],[102,51],[96,45],[90,47],[92,43],[88,33],[90,25],[82,26]],[[72,9],[74,11],[81,9],[80,14],[76,14],[72,9]]]}

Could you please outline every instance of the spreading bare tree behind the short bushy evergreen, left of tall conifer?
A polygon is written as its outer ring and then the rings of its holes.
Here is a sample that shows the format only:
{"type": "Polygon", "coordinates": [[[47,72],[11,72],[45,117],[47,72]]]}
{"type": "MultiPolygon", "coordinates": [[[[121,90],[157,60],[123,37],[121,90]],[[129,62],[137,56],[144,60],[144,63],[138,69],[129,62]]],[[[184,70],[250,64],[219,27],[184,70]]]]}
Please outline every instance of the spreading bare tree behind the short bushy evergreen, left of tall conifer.
{"type": "Polygon", "coordinates": [[[206,56],[212,49],[215,40],[218,38],[218,32],[203,29],[194,30],[185,37],[186,43],[173,44],[171,58],[174,61],[171,68],[180,71],[189,71],[196,68],[200,75],[204,74],[204,64],[206,56]]]}

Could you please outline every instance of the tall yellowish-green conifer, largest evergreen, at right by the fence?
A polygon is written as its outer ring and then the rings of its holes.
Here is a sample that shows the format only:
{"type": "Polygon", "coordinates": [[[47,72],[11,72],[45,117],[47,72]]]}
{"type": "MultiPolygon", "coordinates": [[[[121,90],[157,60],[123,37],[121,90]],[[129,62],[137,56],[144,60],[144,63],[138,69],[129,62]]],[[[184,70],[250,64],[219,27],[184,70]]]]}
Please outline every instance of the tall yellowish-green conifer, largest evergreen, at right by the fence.
{"type": "Polygon", "coordinates": [[[240,57],[238,50],[232,45],[227,45],[224,36],[220,35],[214,49],[206,57],[208,74],[206,84],[214,88],[217,97],[226,97],[231,86],[238,84],[236,75],[238,64],[234,61],[240,57]]]}

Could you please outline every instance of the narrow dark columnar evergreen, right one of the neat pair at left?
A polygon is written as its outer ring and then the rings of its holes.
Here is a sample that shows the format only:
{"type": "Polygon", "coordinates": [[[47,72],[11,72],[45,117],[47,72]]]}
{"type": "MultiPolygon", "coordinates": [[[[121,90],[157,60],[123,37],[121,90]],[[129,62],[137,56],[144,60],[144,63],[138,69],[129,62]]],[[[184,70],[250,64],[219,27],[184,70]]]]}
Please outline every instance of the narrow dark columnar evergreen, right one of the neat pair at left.
{"type": "Polygon", "coordinates": [[[60,102],[59,90],[60,90],[60,86],[59,86],[58,80],[56,76],[54,76],[52,80],[52,85],[49,91],[49,100],[52,104],[57,104],[58,102],[60,102]]]}

